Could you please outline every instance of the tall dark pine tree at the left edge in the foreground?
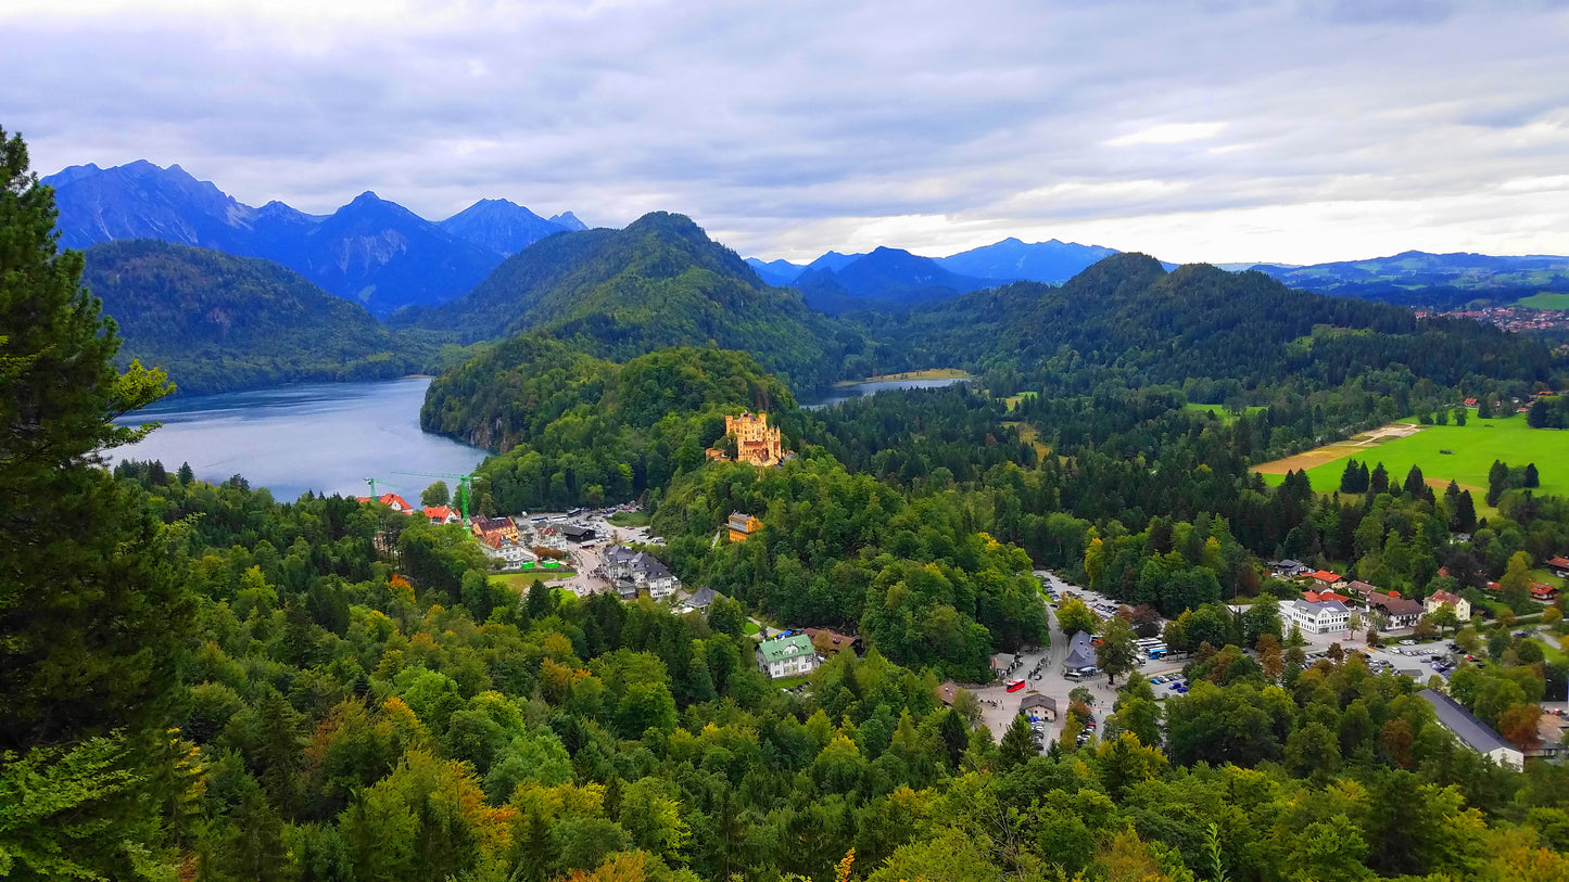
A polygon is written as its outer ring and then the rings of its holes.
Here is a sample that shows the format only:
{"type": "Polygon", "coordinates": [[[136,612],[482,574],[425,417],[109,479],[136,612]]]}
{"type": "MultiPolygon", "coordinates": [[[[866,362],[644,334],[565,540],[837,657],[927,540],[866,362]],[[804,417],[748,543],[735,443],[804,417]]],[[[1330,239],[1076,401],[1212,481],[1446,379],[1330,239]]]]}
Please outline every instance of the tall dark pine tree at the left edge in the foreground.
{"type": "Polygon", "coordinates": [[[111,359],[115,323],[56,252],[53,191],[0,130],[0,749],[157,719],[191,608],[169,530],[97,451],[166,392],[111,359]]]}

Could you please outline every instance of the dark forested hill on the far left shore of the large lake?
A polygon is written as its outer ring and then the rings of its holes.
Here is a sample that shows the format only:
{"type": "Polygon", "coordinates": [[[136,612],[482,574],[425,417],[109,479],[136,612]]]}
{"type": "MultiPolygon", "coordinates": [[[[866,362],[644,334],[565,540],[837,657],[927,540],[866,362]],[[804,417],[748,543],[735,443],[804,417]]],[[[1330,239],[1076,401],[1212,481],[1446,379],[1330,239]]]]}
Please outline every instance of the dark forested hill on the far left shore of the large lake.
{"type": "Polygon", "coordinates": [[[394,378],[417,370],[428,349],[254,257],[113,241],[88,249],[82,282],[119,323],[119,363],[162,367],[185,393],[394,378]]]}

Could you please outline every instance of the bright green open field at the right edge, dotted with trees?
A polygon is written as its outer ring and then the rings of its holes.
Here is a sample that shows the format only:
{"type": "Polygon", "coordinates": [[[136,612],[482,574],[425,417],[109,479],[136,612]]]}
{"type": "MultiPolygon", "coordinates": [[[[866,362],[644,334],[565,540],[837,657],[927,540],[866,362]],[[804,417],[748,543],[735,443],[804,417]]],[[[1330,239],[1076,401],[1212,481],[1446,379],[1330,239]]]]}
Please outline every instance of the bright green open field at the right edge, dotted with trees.
{"type": "MultiPolygon", "coordinates": [[[[1379,462],[1389,472],[1390,483],[1400,483],[1412,465],[1422,467],[1428,483],[1437,479],[1440,490],[1451,479],[1476,493],[1487,492],[1487,470],[1495,459],[1519,467],[1534,462],[1541,473],[1539,493],[1569,495],[1569,432],[1555,429],[1531,429],[1523,417],[1506,420],[1470,418],[1464,426],[1425,426],[1420,432],[1384,443],[1354,448],[1335,445],[1337,456],[1329,462],[1307,470],[1315,490],[1337,490],[1346,459],[1354,457],[1374,467],[1379,462]],[[1453,453],[1439,453],[1450,450],[1453,453]]],[[[1265,475],[1265,481],[1279,484],[1282,475],[1265,475]]],[[[1483,500],[1476,498],[1478,512],[1483,500]]]]}

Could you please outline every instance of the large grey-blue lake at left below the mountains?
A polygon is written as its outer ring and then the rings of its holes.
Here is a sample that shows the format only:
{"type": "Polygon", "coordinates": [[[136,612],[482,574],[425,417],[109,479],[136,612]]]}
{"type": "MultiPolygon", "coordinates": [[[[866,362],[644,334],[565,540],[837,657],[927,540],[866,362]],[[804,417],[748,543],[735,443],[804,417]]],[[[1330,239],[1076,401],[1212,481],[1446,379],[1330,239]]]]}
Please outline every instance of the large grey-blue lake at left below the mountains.
{"type": "Polygon", "coordinates": [[[287,501],[306,490],[369,495],[364,479],[375,478],[377,492],[419,504],[419,492],[436,478],[399,472],[466,473],[486,456],[420,431],[428,385],[428,378],[314,382],[165,399],[119,420],[163,428],[110,456],[158,459],[169,472],[190,462],[198,478],[212,483],[243,475],[287,501]]]}

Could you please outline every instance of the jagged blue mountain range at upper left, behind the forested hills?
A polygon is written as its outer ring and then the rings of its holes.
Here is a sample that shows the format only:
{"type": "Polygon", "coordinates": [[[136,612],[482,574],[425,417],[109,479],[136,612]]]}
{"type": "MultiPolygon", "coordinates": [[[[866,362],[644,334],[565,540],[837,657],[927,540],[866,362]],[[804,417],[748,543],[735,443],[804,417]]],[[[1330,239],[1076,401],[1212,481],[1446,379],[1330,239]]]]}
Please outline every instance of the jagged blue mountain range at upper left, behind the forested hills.
{"type": "Polygon", "coordinates": [[[71,166],[44,183],[55,188],[63,248],[155,238],[264,257],[378,316],[457,298],[527,244],[585,229],[570,211],[546,219],[504,199],[439,222],[369,191],[325,216],[282,202],[254,208],[146,160],[71,166]]]}

